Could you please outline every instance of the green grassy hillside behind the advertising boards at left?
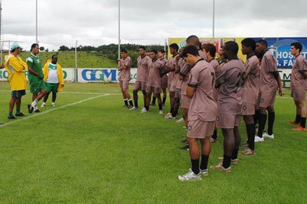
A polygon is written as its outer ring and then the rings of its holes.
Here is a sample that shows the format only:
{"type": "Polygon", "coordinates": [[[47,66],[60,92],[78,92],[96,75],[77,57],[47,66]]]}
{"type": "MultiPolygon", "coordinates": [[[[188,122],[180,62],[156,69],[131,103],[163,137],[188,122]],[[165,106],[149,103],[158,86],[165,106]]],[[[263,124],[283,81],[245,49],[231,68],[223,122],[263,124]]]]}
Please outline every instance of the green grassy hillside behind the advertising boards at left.
{"type": "MultiPolygon", "coordinates": [[[[52,55],[58,53],[58,62],[63,68],[74,68],[75,63],[75,53],[74,52],[40,52],[39,56],[43,63],[47,59],[51,58],[52,55]]],[[[20,54],[23,60],[26,60],[29,52],[23,52],[20,54]]],[[[79,68],[116,68],[117,62],[108,59],[104,56],[98,55],[96,53],[78,52],[78,67],[79,68]]]]}

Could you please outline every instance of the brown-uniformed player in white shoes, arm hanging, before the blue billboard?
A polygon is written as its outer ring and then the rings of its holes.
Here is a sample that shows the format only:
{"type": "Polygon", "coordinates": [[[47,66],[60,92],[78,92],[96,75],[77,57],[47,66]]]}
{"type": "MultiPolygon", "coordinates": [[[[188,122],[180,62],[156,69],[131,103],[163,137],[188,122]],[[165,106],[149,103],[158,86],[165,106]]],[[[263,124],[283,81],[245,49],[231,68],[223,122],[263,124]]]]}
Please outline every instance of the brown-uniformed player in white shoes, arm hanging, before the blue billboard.
{"type": "Polygon", "coordinates": [[[255,142],[263,142],[264,137],[274,138],[273,125],[275,120],[274,103],[276,91],[279,87],[279,95],[282,96],[283,88],[275,57],[268,50],[266,40],[256,42],[256,52],[261,59],[260,78],[259,78],[259,126],[255,136],[255,142]],[[267,121],[268,111],[268,133],[263,133],[267,121]]]}

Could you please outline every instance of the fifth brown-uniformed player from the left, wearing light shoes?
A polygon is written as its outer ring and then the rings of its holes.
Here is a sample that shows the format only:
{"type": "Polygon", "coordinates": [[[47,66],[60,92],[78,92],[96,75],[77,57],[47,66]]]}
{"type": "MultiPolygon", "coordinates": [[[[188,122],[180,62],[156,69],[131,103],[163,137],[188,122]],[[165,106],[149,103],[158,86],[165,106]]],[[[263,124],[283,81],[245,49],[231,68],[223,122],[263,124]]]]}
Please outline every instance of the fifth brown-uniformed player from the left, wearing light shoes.
{"type": "Polygon", "coordinates": [[[172,43],[169,45],[169,51],[170,54],[172,55],[171,58],[168,59],[167,64],[166,64],[166,70],[168,71],[168,91],[169,91],[169,99],[170,99],[170,111],[168,114],[165,115],[166,119],[174,119],[176,117],[172,116],[173,110],[174,110],[174,97],[175,97],[175,92],[176,92],[176,85],[174,84],[175,82],[175,68],[176,68],[176,60],[179,57],[178,55],[178,49],[179,46],[176,43],[172,43]]]}

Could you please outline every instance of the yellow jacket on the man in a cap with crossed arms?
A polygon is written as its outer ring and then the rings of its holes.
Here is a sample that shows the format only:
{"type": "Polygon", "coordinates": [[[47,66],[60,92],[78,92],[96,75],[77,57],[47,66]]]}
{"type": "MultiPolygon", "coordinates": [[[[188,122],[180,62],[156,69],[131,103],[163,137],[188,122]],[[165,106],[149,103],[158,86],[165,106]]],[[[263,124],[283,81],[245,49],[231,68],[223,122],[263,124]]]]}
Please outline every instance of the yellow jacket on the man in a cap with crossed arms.
{"type": "Polygon", "coordinates": [[[12,91],[26,90],[27,80],[26,71],[28,65],[20,57],[13,55],[5,56],[5,69],[9,73],[9,82],[12,91]]]}

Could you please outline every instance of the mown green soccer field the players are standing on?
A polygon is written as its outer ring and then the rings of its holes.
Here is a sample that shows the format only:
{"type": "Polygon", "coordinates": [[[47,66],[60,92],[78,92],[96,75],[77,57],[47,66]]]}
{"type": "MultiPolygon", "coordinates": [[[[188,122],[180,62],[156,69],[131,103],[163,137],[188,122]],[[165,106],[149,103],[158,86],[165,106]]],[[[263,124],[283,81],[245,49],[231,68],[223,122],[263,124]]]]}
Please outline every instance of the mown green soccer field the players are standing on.
{"type": "MultiPolygon", "coordinates": [[[[9,85],[0,85],[0,121],[7,123],[0,127],[0,203],[307,201],[307,134],[287,125],[295,116],[289,92],[276,100],[275,139],[256,143],[257,155],[240,156],[231,173],[209,170],[202,181],[181,182],[190,167],[179,149],[183,123],[163,119],[158,107],[147,114],[121,108],[117,85],[67,84],[56,108],[31,117],[27,93],[27,117],[13,123],[6,119],[9,85]]],[[[240,129],[244,141],[243,123],[240,129]]],[[[218,136],[209,165],[223,155],[218,136]]]]}

